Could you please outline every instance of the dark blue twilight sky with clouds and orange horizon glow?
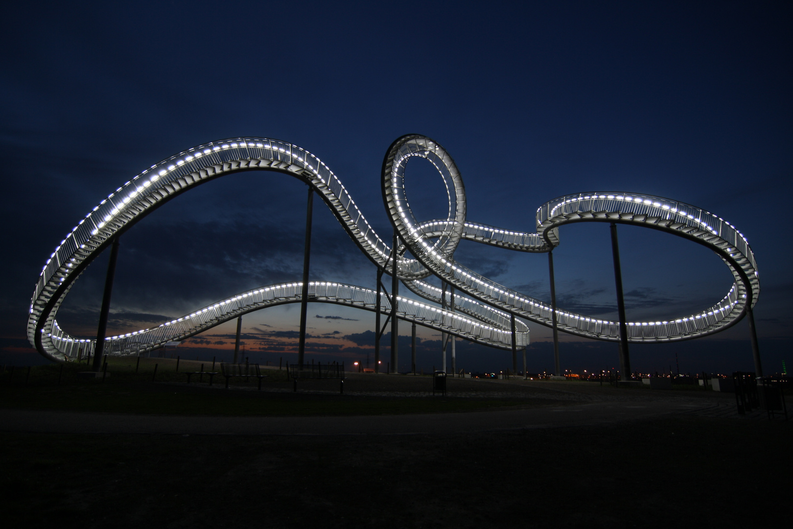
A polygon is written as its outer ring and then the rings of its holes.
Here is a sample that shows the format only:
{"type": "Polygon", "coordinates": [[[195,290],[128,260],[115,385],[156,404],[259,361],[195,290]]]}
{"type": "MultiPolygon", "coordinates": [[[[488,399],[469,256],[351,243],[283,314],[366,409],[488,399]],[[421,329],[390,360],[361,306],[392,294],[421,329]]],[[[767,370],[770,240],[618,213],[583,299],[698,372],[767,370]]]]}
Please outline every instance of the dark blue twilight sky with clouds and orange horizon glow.
{"type": "MultiPolygon", "coordinates": [[[[230,136],[286,140],[320,156],[387,235],[382,157],[417,132],[454,156],[475,222],[533,231],[539,205],[594,190],[661,195],[729,220],[760,269],[764,370],[791,365],[788,2],[340,5],[6,8],[0,363],[39,362],[25,322],[40,266],[77,220],[159,160],[230,136]]],[[[416,217],[445,217],[441,178],[412,164],[416,217]]],[[[305,185],[283,174],[231,175],[176,198],[121,239],[109,333],[299,280],[304,220],[305,185]]],[[[608,225],[566,226],[560,236],[557,305],[615,318],[608,225]]],[[[690,314],[730,289],[726,266],[699,245],[625,226],[619,237],[629,319],[690,314]]],[[[374,265],[320,201],[312,244],[312,279],[374,287],[374,265]]],[[[455,258],[550,301],[544,254],[463,242],[455,258]]],[[[106,259],[59,311],[67,331],[95,337],[106,259]]],[[[307,358],[365,361],[373,351],[373,313],[318,304],[308,315],[307,358]]],[[[298,324],[298,305],[245,316],[246,354],[294,361],[298,324]]],[[[550,329],[529,325],[529,370],[551,370],[550,329]]],[[[224,324],[178,349],[182,358],[226,358],[233,332],[224,324]]],[[[419,368],[438,366],[439,334],[419,337],[419,368]]],[[[407,370],[407,338],[400,347],[407,370]]],[[[674,369],[676,353],[684,372],[753,370],[745,321],[704,339],[631,347],[644,371],[674,369]]],[[[510,363],[506,351],[458,345],[466,370],[510,363]]],[[[561,335],[561,363],[613,367],[617,347],[561,335]]]]}

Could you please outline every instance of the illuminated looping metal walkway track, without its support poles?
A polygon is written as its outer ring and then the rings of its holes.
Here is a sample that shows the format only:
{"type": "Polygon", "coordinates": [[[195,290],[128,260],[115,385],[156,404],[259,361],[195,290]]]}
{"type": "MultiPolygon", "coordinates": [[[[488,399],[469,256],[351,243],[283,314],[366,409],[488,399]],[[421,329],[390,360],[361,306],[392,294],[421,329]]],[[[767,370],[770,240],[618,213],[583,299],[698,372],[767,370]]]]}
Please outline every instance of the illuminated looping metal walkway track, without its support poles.
{"type": "MultiPolygon", "coordinates": [[[[93,340],[80,340],[56,323],[56,313],[86,266],[109,246],[113,237],[131,228],[171,198],[225,174],[268,170],[289,174],[308,183],[322,197],[358,247],[386,271],[391,248],[374,232],[336,175],[316,155],[279,140],[236,138],[203,144],[151,166],[97,205],[62,240],[43,266],[30,304],[28,337],[40,353],[63,360],[89,352],[93,340]]],[[[434,286],[420,281],[435,275],[456,286],[465,296],[455,296],[457,312],[447,312],[415,300],[400,298],[398,316],[485,343],[511,347],[511,315],[550,324],[551,308],[542,301],[507,289],[454,261],[460,240],[474,240],[516,251],[549,251],[558,243],[557,228],[583,221],[620,222],[661,229],[711,247],[730,267],[736,279],[718,304],[693,315],[659,322],[630,322],[631,341],[658,342],[688,339],[718,332],[743,316],[759,293],[757,266],[745,238],[726,221],[702,209],[644,194],[590,193],[559,197],[537,211],[536,233],[510,232],[465,219],[465,188],[451,156],[426,136],[408,135],[396,140],[383,163],[383,200],[392,224],[416,259],[397,259],[397,276],[409,289],[431,301],[440,301],[434,286]],[[419,224],[405,195],[404,168],[412,156],[429,160],[442,175],[449,191],[449,216],[419,224]],[[472,299],[473,298],[473,299],[472,299]],[[404,302],[403,302],[404,301],[404,302]],[[462,312],[462,314],[460,313],[462,312]]],[[[301,283],[267,286],[205,307],[158,328],[108,337],[105,351],[135,355],[183,339],[239,314],[266,306],[301,301],[301,283]],[[255,300],[255,301],[251,301],[255,300]],[[243,302],[245,302],[243,304],[243,302]],[[242,304],[242,305],[241,305],[242,304]]],[[[340,283],[312,282],[310,301],[350,305],[375,310],[372,291],[340,283]],[[320,290],[331,286],[335,294],[320,290]],[[339,293],[341,293],[339,295],[339,293]]],[[[382,312],[389,312],[387,297],[382,312]]],[[[557,309],[562,331],[595,339],[619,339],[617,322],[597,320],[557,309]]],[[[528,328],[518,321],[519,347],[528,343],[528,328]]]]}

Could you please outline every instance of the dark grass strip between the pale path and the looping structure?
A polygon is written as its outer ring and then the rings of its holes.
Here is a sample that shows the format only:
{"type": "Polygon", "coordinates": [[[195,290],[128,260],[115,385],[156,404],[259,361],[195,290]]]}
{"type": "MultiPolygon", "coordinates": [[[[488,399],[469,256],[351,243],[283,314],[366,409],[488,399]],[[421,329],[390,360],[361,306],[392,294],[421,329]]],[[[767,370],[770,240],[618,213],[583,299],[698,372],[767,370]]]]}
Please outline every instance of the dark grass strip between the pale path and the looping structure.
{"type": "MultiPolygon", "coordinates": [[[[164,415],[338,416],[468,412],[554,403],[543,398],[541,389],[531,390],[531,400],[498,397],[492,390],[504,385],[486,381],[478,386],[482,398],[417,397],[419,392],[431,392],[432,381],[428,376],[409,380],[403,377],[395,383],[397,377],[353,374],[353,379],[347,380],[344,395],[339,394],[337,380],[301,381],[299,391],[293,393],[285,370],[277,369],[265,371],[268,377],[262,382],[261,392],[256,390],[255,379],[232,378],[229,390],[224,389],[225,380],[220,376],[216,376],[211,387],[207,377],[203,383],[197,383],[198,378],[193,376],[193,383],[187,385],[184,372],[200,370],[200,364],[182,361],[177,372],[176,361],[172,359],[141,358],[140,366],[128,359],[111,360],[109,377],[104,381],[102,378],[79,380],[78,373],[86,370],[85,364],[64,366],[63,371],[60,366],[36,366],[29,375],[27,368],[15,370],[13,376],[6,371],[0,378],[0,408],[164,415]],[[356,397],[356,390],[360,393],[362,389],[370,394],[366,398],[356,397]],[[394,397],[394,389],[404,394],[394,397]]],[[[211,362],[205,363],[205,370],[211,366],[211,362]]],[[[457,382],[464,381],[450,381],[450,386],[457,382]]],[[[467,383],[472,385],[471,381],[467,383]]],[[[551,396],[545,393],[546,397],[551,396]]]]}

